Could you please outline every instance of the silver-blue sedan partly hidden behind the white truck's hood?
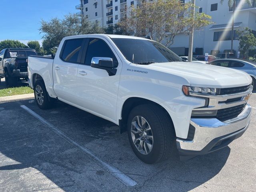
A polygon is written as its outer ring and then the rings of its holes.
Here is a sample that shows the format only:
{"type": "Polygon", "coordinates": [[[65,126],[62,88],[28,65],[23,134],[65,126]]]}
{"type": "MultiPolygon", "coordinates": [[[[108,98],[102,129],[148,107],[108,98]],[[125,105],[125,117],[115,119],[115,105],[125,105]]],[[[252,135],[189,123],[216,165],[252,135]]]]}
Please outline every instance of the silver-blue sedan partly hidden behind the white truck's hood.
{"type": "Polygon", "coordinates": [[[252,85],[254,90],[256,90],[256,62],[240,59],[220,59],[208,64],[238,69],[248,73],[252,77],[252,85]]]}

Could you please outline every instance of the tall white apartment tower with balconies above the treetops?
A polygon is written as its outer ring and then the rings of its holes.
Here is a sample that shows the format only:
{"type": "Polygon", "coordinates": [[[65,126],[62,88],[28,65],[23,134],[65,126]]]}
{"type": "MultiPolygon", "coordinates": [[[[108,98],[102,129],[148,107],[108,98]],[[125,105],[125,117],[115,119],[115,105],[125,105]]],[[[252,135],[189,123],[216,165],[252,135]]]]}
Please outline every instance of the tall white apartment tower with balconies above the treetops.
{"type": "Polygon", "coordinates": [[[76,14],[102,26],[108,26],[125,18],[127,9],[138,4],[140,0],[80,0],[80,4],[76,6],[80,11],[76,14]]]}

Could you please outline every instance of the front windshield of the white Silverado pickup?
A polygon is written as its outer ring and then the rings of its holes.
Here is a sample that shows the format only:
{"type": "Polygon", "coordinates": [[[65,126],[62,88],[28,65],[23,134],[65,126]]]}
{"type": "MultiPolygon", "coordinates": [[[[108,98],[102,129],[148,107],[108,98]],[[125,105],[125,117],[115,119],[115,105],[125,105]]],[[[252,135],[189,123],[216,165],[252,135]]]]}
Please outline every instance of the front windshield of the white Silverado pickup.
{"type": "Polygon", "coordinates": [[[142,39],[112,38],[124,57],[134,63],[183,62],[183,60],[162,44],[142,39]]]}

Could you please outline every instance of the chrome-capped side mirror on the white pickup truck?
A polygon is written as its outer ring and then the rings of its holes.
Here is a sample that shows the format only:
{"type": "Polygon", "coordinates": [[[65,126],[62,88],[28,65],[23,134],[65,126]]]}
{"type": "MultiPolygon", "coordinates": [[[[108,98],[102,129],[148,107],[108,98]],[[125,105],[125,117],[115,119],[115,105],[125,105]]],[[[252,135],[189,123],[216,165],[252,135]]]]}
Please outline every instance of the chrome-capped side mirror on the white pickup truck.
{"type": "Polygon", "coordinates": [[[116,68],[114,68],[113,59],[109,57],[93,57],[91,67],[104,69],[108,72],[109,76],[116,74],[116,68]]]}

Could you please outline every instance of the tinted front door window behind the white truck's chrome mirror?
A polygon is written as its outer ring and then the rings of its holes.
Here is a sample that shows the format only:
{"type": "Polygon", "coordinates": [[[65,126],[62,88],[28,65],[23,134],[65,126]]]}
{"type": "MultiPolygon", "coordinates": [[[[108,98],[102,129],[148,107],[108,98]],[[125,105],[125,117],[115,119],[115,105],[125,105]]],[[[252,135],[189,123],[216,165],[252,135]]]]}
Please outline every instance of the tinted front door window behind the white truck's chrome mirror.
{"type": "Polygon", "coordinates": [[[110,57],[114,66],[118,66],[118,61],[109,46],[101,39],[90,39],[86,52],[85,64],[91,65],[93,57],[110,57]]]}

